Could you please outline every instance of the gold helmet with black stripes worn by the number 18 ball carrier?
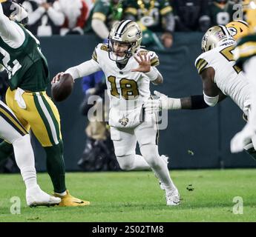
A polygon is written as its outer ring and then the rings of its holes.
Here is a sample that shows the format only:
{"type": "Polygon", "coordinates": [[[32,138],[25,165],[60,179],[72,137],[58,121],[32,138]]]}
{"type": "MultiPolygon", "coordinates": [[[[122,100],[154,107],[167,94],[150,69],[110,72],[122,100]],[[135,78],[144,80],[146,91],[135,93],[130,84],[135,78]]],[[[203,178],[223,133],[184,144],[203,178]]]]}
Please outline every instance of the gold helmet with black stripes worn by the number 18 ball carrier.
{"type": "Polygon", "coordinates": [[[120,62],[129,59],[140,48],[142,41],[142,31],[135,21],[117,21],[111,28],[108,36],[108,56],[111,60],[120,62]],[[125,56],[116,56],[114,52],[114,42],[128,44],[125,56]]]}

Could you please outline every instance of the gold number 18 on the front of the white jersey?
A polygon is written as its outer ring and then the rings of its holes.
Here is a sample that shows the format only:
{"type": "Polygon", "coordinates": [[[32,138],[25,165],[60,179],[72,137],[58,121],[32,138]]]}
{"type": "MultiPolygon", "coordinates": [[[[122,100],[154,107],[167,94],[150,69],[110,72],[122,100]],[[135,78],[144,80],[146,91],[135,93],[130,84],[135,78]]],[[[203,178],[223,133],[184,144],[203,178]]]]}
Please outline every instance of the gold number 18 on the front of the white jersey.
{"type": "MultiPolygon", "coordinates": [[[[111,83],[111,95],[119,98],[120,94],[118,93],[118,90],[116,88],[116,77],[108,76],[108,81],[111,83]]],[[[122,97],[124,99],[131,99],[130,96],[132,96],[132,99],[134,99],[139,96],[138,85],[137,82],[134,80],[121,79],[120,87],[122,97]]]]}

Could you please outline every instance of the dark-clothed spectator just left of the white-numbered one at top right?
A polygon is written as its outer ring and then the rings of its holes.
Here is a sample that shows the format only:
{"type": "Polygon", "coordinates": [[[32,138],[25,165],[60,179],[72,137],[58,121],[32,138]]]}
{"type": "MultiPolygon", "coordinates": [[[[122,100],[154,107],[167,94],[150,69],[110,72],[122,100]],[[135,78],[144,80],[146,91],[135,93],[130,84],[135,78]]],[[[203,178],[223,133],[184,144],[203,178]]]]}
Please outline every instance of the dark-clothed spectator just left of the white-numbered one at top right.
{"type": "Polygon", "coordinates": [[[205,32],[210,27],[209,0],[171,2],[174,7],[175,30],[205,32]]]}

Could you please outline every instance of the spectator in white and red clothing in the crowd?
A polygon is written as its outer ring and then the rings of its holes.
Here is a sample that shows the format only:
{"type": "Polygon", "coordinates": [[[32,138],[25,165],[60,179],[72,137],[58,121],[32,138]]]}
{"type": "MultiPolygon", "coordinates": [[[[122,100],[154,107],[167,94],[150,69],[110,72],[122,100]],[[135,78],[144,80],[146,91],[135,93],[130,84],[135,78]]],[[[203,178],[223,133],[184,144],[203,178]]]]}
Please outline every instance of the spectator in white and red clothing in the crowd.
{"type": "Polygon", "coordinates": [[[67,34],[83,35],[83,28],[89,16],[89,7],[85,0],[59,0],[65,23],[61,29],[61,36],[67,34]]]}

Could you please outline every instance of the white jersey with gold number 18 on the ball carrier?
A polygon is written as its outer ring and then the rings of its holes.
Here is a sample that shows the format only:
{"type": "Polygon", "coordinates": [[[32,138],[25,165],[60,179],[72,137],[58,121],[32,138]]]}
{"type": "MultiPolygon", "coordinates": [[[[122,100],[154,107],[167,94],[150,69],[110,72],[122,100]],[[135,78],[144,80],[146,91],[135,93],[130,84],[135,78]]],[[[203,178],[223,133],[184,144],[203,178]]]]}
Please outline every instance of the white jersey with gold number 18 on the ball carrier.
{"type": "MultiPolygon", "coordinates": [[[[144,49],[138,51],[140,53],[148,52],[148,55],[151,56],[152,67],[159,64],[156,53],[144,49]]],[[[106,44],[98,44],[92,58],[105,73],[110,98],[110,124],[117,126],[118,123],[121,123],[119,120],[122,119],[125,126],[126,121],[129,121],[128,123],[133,126],[136,123],[135,120],[140,117],[143,102],[151,96],[148,76],[145,73],[131,72],[132,69],[139,67],[134,56],[131,56],[124,68],[119,69],[116,61],[109,59],[106,44]],[[116,122],[111,121],[111,119],[116,119],[116,122]]]]}

